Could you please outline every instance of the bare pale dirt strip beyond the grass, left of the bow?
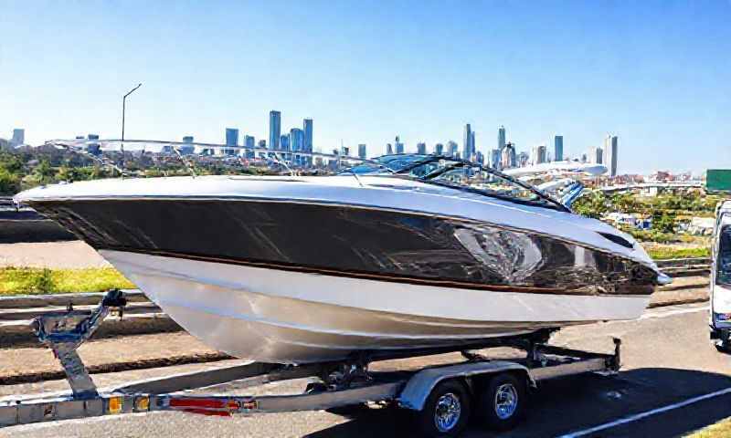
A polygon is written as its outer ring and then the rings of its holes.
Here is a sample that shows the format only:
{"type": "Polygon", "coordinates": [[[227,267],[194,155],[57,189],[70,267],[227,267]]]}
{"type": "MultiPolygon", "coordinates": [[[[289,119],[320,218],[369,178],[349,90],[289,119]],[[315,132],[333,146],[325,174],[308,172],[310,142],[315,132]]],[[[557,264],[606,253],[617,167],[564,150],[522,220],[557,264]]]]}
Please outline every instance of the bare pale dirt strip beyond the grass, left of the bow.
{"type": "Polygon", "coordinates": [[[83,268],[110,266],[90,245],[79,240],[0,244],[0,267],[83,268]]]}

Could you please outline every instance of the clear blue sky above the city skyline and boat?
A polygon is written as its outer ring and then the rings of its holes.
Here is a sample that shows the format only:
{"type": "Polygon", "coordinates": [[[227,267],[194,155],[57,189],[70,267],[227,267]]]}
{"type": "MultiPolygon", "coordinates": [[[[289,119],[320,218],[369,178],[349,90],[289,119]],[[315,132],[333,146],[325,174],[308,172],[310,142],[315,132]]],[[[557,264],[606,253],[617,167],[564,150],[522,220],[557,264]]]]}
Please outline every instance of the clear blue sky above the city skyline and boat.
{"type": "Polygon", "coordinates": [[[479,151],[620,137],[620,172],[731,168],[731,1],[0,0],[0,137],[223,142],[314,120],[315,148],[400,134],[479,151]]]}

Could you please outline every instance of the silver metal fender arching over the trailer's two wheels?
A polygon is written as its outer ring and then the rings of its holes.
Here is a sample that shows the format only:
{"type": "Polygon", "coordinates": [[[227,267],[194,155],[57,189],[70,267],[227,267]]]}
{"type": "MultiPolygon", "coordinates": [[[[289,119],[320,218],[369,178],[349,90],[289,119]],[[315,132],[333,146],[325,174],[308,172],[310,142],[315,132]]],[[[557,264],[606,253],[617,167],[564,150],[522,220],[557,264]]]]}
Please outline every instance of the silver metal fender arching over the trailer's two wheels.
{"type": "Polygon", "coordinates": [[[429,398],[431,390],[440,381],[453,378],[470,378],[484,374],[495,374],[504,371],[517,371],[524,374],[531,387],[535,381],[530,371],[523,365],[507,360],[491,360],[487,362],[468,362],[449,367],[420,370],[408,380],[403,391],[398,395],[398,405],[413,411],[421,411],[429,398]]]}

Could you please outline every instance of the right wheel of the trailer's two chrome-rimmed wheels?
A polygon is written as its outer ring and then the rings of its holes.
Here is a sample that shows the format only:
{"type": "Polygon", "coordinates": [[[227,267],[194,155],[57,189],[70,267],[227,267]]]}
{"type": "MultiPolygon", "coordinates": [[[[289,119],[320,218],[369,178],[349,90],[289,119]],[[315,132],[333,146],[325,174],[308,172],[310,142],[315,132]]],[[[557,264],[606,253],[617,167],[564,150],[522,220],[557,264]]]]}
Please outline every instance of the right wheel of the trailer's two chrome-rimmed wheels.
{"type": "Polygon", "coordinates": [[[524,379],[509,373],[498,374],[486,382],[480,394],[480,421],[496,431],[513,429],[523,419],[526,399],[524,379]]]}

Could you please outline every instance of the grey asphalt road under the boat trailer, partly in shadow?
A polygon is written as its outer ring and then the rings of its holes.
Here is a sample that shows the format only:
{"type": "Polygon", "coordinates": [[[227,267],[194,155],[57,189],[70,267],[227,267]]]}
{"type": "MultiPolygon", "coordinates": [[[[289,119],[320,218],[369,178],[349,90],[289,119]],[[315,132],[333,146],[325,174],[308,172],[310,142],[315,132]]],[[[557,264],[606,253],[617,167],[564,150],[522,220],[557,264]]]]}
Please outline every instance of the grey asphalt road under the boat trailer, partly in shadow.
{"type": "MultiPolygon", "coordinates": [[[[623,369],[616,377],[584,375],[543,382],[528,418],[500,436],[683,436],[731,416],[731,392],[677,409],[652,413],[697,396],[731,388],[731,356],[708,341],[703,306],[657,308],[631,322],[563,330],[556,343],[609,351],[623,340],[623,369]],[[639,420],[631,416],[650,412],[639,420]],[[621,422],[622,419],[630,421],[621,422]],[[620,421],[620,422],[618,422],[620,421]],[[609,423],[609,424],[608,424],[609,423]],[[602,426],[604,425],[604,426],[602,426]],[[595,432],[590,432],[596,428],[595,432]]],[[[220,419],[154,412],[90,420],[51,422],[0,430],[0,436],[412,436],[408,415],[365,409],[350,415],[296,412],[220,419]]],[[[472,428],[466,436],[497,436],[472,428]]]]}

